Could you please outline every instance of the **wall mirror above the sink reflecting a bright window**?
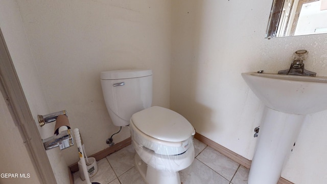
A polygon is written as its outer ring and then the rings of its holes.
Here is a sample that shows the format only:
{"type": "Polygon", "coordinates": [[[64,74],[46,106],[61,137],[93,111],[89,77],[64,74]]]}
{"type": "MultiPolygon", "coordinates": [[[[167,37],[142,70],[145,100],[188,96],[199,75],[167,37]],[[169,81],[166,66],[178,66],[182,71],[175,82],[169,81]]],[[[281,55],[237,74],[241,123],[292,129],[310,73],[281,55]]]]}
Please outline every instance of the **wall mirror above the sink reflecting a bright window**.
{"type": "Polygon", "coordinates": [[[274,0],[265,38],[327,33],[327,0],[274,0]]]}

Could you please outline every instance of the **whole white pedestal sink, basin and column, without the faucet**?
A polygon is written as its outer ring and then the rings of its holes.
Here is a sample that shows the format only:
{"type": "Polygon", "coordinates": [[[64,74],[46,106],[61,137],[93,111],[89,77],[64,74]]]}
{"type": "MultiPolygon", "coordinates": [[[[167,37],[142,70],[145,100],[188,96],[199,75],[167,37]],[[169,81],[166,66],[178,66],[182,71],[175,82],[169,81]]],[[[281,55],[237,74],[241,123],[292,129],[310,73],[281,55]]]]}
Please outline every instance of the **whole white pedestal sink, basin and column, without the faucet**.
{"type": "Polygon", "coordinates": [[[327,109],[327,77],[242,73],[266,105],[248,184],[276,184],[306,114],[327,109]]]}

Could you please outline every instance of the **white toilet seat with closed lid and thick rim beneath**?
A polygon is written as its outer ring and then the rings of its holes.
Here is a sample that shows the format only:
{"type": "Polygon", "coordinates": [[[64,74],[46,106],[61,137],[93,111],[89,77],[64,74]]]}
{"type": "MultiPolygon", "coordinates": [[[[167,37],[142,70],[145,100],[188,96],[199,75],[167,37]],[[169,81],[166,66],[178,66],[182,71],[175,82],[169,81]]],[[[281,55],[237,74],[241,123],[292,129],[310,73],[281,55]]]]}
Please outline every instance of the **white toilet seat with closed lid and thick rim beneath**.
{"type": "Polygon", "coordinates": [[[185,152],[195,134],[193,126],[179,113],[158,106],[134,113],[130,127],[138,145],[162,155],[185,152]]]}

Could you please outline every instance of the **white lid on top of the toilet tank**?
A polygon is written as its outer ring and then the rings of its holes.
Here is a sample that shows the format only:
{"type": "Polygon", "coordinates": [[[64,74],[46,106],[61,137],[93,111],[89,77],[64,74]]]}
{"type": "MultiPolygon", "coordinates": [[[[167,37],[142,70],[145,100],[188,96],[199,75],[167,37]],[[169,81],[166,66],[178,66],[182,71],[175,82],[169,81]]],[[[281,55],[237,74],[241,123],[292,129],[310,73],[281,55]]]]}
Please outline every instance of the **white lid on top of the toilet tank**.
{"type": "Polygon", "coordinates": [[[151,76],[152,70],[144,70],[144,69],[134,69],[134,70],[114,70],[114,71],[105,71],[101,72],[101,79],[131,79],[138,77],[146,77],[151,76]]]}

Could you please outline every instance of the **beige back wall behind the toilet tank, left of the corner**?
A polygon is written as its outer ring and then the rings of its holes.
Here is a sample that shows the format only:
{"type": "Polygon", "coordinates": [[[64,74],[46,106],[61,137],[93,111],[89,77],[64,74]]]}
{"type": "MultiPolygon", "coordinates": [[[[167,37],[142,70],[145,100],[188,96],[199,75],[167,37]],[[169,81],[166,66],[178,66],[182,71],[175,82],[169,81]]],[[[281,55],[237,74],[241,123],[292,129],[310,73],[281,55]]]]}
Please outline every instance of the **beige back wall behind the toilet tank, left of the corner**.
{"type": "MultiPolygon", "coordinates": [[[[107,148],[106,139],[119,130],[105,107],[100,72],[152,69],[153,105],[169,107],[170,1],[17,3],[49,109],[68,111],[88,155],[107,148]]],[[[118,143],[129,136],[124,127],[113,139],[118,143]]],[[[79,158],[75,146],[62,153],[68,165],[79,158]]]]}

